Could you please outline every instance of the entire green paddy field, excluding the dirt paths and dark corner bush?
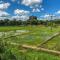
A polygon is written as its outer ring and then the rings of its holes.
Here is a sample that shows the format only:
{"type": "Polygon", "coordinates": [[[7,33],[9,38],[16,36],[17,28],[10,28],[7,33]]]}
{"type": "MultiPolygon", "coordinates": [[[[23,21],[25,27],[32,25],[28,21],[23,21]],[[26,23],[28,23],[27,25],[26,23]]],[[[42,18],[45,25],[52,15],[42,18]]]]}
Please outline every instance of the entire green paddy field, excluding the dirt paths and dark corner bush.
{"type": "MultiPolygon", "coordinates": [[[[60,60],[60,55],[21,47],[21,45],[38,47],[59,32],[60,26],[53,27],[52,31],[50,27],[46,26],[5,26],[0,27],[0,39],[8,43],[8,48],[17,60],[60,60]]],[[[60,35],[44,43],[42,47],[60,51],[60,35]]]]}

